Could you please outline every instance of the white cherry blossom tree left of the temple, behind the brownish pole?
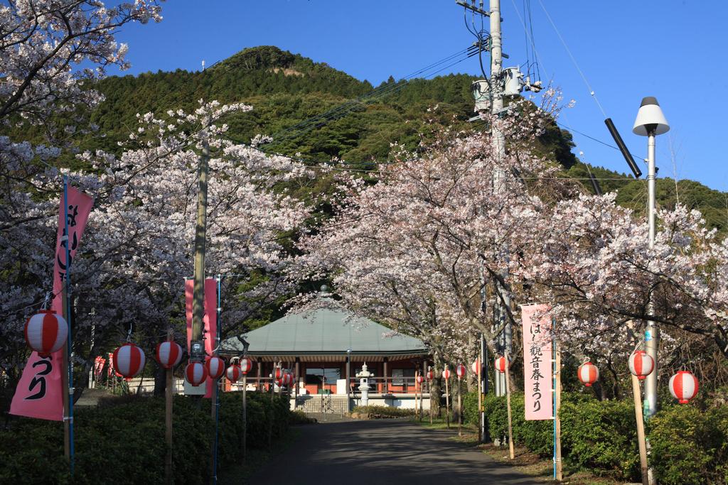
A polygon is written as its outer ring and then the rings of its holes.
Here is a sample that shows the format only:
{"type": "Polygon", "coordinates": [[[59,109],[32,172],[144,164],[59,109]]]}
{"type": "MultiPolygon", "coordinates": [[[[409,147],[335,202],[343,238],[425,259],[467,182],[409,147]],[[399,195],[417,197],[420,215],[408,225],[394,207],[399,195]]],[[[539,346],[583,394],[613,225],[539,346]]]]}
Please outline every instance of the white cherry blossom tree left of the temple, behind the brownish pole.
{"type": "MultiPolygon", "coordinates": [[[[289,260],[282,235],[298,228],[309,209],[289,191],[312,174],[298,162],[227,141],[221,119],[248,110],[247,105],[201,102],[194,113],[148,113],[139,116],[140,126],[121,156],[100,151],[80,156],[94,173],[71,173],[71,183],[95,199],[71,271],[75,353],[87,367],[102,347],[124,340],[129,329],[151,351],[174,319],[184,321],[183,278],[192,272],[203,140],[213,150],[208,272],[237,275],[236,284],[223,286],[223,332],[239,333],[246,319],[292,291],[280,276],[289,260]],[[95,347],[89,348],[92,328],[95,347]]],[[[33,183],[37,191],[50,193],[58,189],[58,173],[49,169],[33,183]]],[[[1,292],[9,322],[2,329],[8,356],[23,348],[24,318],[37,308],[50,281],[56,219],[43,214],[55,215],[58,204],[33,201],[27,193],[16,200],[18,213],[30,217],[0,233],[8,243],[3,250],[12,252],[7,261],[20,265],[15,284],[1,292]]]]}

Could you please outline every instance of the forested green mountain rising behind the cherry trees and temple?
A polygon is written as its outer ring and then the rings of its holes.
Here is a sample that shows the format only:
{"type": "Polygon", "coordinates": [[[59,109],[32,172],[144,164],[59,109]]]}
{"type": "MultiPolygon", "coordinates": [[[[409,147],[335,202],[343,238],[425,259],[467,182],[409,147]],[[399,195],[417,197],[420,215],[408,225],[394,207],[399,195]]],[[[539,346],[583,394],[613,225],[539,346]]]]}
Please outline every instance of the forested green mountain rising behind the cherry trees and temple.
{"type": "MultiPolygon", "coordinates": [[[[473,115],[470,84],[475,79],[449,74],[405,83],[390,76],[375,89],[326,63],[277,47],[253,47],[205,71],[178,69],[100,81],[98,89],[106,100],[90,117],[103,135],[84,135],[77,145],[81,150],[119,151],[118,142],[135,129],[137,113],[190,109],[199,99],[215,99],[254,107],[229,121],[234,141],[248,143],[256,135],[271,135],[274,140],[263,146],[265,151],[298,154],[311,164],[336,157],[352,169],[370,169],[375,161],[387,160],[392,143],[414,149],[422,137],[427,139],[444,126],[482,129],[482,124],[467,122],[473,115]]],[[[28,139],[28,132],[18,139],[28,139]]],[[[587,167],[571,153],[569,132],[553,124],[540,142],[542,151],[561,164],[564,176],[592,190],[585,180],[587,167]]],[[[617,191],[620,204],[644,211],[644,180],[590,168],[600,179],[614,179],[601,180],[603,191],[617,191]]],[[[726,194],[691,180],[680,181],[677,188],[669,178],[657,181],[658,204],[672,207],[678,198],[700,209],[711,226],[728,228],[726,194]]]]}

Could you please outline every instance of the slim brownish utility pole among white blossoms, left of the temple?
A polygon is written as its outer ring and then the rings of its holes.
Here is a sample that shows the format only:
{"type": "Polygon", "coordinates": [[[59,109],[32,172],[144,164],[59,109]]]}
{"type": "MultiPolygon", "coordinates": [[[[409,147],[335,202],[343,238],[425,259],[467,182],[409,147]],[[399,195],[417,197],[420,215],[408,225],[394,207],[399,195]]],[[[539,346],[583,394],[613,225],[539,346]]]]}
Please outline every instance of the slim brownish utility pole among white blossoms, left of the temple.
{"type": "Polygon", "coordinates": [[[194,231],[194,290],[192,297],[192,338],[190,358],[205,360],[202,345],[202,318],[205,316],[205,239],[207,238],[207,164],[210,147],[203,133],[202,156],[199,158],[199,183],[197,186],[197,225],[194,231]]]}

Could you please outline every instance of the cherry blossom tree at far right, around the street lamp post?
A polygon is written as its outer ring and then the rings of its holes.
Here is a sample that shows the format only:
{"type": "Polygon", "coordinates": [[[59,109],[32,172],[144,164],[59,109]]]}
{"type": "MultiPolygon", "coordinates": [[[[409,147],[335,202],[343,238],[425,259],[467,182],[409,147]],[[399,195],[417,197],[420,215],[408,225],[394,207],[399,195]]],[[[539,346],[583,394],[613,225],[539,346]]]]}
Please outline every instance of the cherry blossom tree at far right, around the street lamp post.
{"type": "Polygon", "coordinates": [[[695,337],[728,356],[725,240],[697,211],[678,205],[657,214],[654,248],[646,224],[614,203],[614,194],[560,201],[518,275],[555,303],[560,337],[583,353],[624,356],[644,322],[662,329],[661,360],[695,360],[695,337]],[[632,328],[632,330],[628,330],[632,328]]]}

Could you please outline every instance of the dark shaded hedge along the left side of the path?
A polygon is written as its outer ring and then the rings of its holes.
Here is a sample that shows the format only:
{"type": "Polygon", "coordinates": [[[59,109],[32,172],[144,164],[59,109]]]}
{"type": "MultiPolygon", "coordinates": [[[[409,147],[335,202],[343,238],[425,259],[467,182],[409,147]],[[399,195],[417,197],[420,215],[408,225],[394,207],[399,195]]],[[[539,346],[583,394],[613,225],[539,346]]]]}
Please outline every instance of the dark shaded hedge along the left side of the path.
{"type": "MultiPolygon", "coordinates": [[[[164,398],[124,399],[120,404],[77,408],[76,468],[73,481],[63,457],[60,422],[13,419],[0,430],[0,483],[98,484],[162,483],[165,479],[164,398]]],[[[215,431],[210,400],[175,396],[173,407],[175,483],[205,483],[210,476],[210,444],[215,431]]],[[[248,393],[248,447],[268,446],[288,428],[288,400],[248,393]]],[[[242,396],[223,393],[220,407],[218,462],[240,460],[242,396]]]]}

